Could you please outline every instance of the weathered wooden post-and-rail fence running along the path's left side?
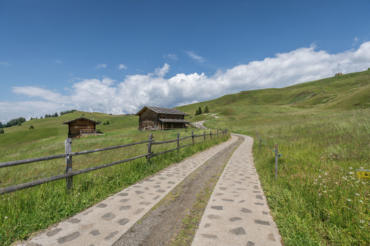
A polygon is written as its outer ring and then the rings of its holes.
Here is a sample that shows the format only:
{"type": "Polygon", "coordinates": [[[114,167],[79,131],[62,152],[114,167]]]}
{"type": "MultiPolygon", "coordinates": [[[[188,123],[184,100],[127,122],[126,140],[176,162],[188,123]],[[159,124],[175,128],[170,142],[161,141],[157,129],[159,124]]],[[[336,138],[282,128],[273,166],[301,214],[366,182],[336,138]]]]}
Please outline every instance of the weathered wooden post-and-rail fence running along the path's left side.
{"type": "Polygon", "coordinates": [[[12,166],[15,166],[15,165],[22,165],[22,164],[27,164],[27,163],[35,163],[35,162],[38,162],[38,161],[49,161],[49,160],[52,160],[52,159],[62,159],[62,158],[64,158],[65,161],[66,161],[66,172],[64,174],[59,174],[59,175],[51,176],[51,177],[48,177],[48,178],[42,178],[40,180],[35,180],[35,181],[32,181],[32,182],[27,182],[27,183],[23,183],[23,184],[16,184],[16,185],[11,186],[11,187],[1,188],[0,189],[0,195],[3,195],[5,193],[11,193],[11,192],[14,192],[14,191],[19,191],[19,190],[22,190],[22,189],[27,189],[27,188],[34,187],[34,186],[37,186],[37,185],[40,185],[40,184],[44,184],[46,182],[60,180],[62,178],[66,179],[66,189],[71,191],[71,189],[73,188],[73,176],[76,176],[76,175],[79,175],[79,174],[84,174],[86,172],[95,171],[97,169],[101,169],[101,168],[104,168],[104,167],[110,167],[112,165],[125,163],[127,161],[133,161],[135,159],[139,159],[139,158],[142,158],[142,157],[146,157],[147,161],[149,162],[149,160],[154,156],[158,156],[160,154],[166,154],[168,152],[172,152],[174,150],[179,150],[180,148],[184,148],[186,146],[194,145],[195,137],[204,137],[204,141],[206,141],[206,136],[207,135],[209,135],[210,139],[212,139],[212,136],[216,135],[217,137],[219,137],[219,135],[222,134],[222,136],[223,136],[226,133],[227,133],[227,129],[225,129],[223,131],[217,130],[217,133],[212,133],[212,131],[210,131],[210,133],[206,133],[206,131],[204,131],[203,135],[194,135],[194,131],[192,131],[190,136],[180,138],[180,133],[177,133],[177,139],[168,140],[168,141],[158,141],[158,142],[156,142],[153,139],[153,134],[150,134],[149,139],[147,141],[140,141],[138,143],[129,143],[129,144],[121,145],[121,146],[112,146],[112,147],[107,147],[107,148],[99,148],[99,149],[95,149],[95,150],[84,150],[84,151],[79,151],[79,152],[72,152],[72,141],[71,141],[70,138],[67,138],[64,141],[64,148],[65,148],[65,153],[64,154],[56,154],[56,155],[52,155],[52,156],[42,156],[42,157],[37,157],[37,158],[32,158],[32,159],[25,159],[25,160],[20,160],[20,161],[8,161],[8,162],[5,162],[5,163],[0,163],[0,168],[3,168],[3,167],[12,167],[12,166]],[[184,146],[180,146],[180,141],[181,140],[188,139],[190,137],[192,138],[192,143],[188,143],[184,146]],[[153,145],[164,144],[164,143],[173,143],[175,141],[177,141],[177,147],[176,148],[173,148],[171,150],[166,150],[166,151],[163,151],[163,152],[158,152],[158,153],[153,153],[151,151],[151,146],[153,146],[153,145]],[[128,147],[128,146],[136,146],[138,144],[143,144],[143,143],[147,143],[147,145],[148,145],[148,151],[145,154],[140,154],[138,156],[134,156],[134,157],[129,158],[129,159],[124,159],[124,160],[121,160],[121,161],[114,161],[112,163],[98,165],[98,166],[95,166],[95,167],[89,167],[89,168],[81,169],[81,170],[77,170],[77,171],[73,171],[73,169],[72,169],[72,167],[73,167],[72,157],[73,156],[77,156],[77,155],[80,155],[80,154],[90,154],[90,153],[100,152],[100,151],[104,151],[104,150],[114,150],[114,149],[117,149],[117,148],[125,148],[125,147],[128,147]]]}

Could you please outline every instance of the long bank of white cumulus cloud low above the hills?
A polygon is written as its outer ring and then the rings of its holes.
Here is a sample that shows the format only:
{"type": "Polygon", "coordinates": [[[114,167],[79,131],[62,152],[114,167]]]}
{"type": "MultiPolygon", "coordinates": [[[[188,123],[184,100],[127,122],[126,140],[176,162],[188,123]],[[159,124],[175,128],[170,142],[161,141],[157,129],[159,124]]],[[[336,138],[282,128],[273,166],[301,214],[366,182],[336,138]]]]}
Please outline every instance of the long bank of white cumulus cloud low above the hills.
{"type": "MultiPolygon", "coordinates": [[[[330,54],[317,47],[277,53],[261,61],[251,61],[212,76],[197,72],[176,74],[165,79],[169,64],[148,74],[134,74],[123,81],[111,78],[79,79],[71,85],[70,94],[61,94],[41,87],[13,87],[13,92],[33,100],[0,102],[0,120],[14,115],[29,117],[66,109],[101,111],[104,113],[135,113],[145,105],[175,107],[210,100],[243,90],[286,87],[297,83],[332,77],[336,72],[357,72],[370,67],[370,42],[357,50],[330,54]]],[[[10,119],[9,119],[10,120],[10,119]]]]}

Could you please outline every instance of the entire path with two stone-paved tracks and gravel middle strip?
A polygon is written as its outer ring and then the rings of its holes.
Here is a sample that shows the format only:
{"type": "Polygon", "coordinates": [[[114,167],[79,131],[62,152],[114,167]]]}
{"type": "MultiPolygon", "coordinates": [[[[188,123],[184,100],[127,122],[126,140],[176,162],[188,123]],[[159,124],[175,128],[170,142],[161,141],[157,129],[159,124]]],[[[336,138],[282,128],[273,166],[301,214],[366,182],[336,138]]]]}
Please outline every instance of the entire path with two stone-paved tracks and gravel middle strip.
{"type": "Polygon", "coordinates": [[[176,245],[282,245],[252,144],[251,137],[233,134],[21,245],[173,245],[205,191],[212,195],[197,209],[193,232],[176,245]]]}

